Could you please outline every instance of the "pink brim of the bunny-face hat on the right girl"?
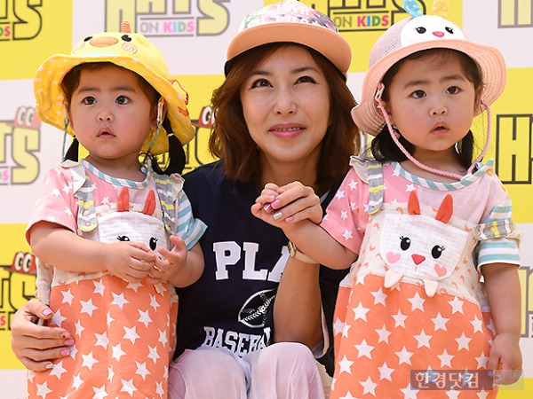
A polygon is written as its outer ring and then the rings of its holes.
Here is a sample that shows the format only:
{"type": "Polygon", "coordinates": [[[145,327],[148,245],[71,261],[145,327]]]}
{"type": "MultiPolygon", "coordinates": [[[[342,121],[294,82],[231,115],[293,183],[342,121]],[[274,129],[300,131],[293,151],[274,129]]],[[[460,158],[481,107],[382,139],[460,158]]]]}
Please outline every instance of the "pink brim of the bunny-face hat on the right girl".
{"type": "Polygon", "coordinates": [[[464,52],[480,67],[483,80],[481,98],[487,105],[491,105],[505,89],[506,66],[505,59],[496,48],[466,40],[448,39],[414,43],[388,54],[370,66],[362,84],[361,102],[352,110],[355,124],[363,132],[377,136],[383,128],[385,120],[378,110],[375,95],[378,83],[383,79],[386,71],[396,62],[417,51],[429,49],[450,49],[464,52]]]}

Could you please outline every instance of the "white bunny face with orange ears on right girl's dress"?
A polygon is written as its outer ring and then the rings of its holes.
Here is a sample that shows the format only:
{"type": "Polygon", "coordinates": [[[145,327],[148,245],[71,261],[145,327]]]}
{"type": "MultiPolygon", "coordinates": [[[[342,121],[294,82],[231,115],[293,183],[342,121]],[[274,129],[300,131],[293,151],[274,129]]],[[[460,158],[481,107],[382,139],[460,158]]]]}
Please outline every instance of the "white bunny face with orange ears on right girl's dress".
{"type": "Polygon", "coordinates": [[[385,215],[379,254],[386,263],[385,286],[396,286],[405,276],[422,280],[434,296],[439,280],[456,268],[469,234],[450,225],[453,202],[447,195],[436,215],[420,211],[416,192],[410,193],[408,212],[385,215]]]}

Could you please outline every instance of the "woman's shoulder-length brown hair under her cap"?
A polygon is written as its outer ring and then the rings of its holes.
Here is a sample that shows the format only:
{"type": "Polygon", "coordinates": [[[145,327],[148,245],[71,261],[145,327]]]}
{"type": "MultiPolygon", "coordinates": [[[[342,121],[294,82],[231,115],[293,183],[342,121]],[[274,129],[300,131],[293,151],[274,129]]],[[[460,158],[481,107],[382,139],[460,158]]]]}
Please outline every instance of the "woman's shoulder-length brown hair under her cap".
{"type": "MultiPolygon", "coordinates": [[[[240,54],[231,60],[226,81],[213,92],[211,104],[215,123],[209,140],[211,153],[223,159],[226,175],[241,181],[259,181],[261,166],[259,148],[250,136],[243,115],[240,90],[252,71],[274,51],[294,43],[265,44],[240,54]]],[[[350,111],[355,106],[346,78],[336,66],[317,51],[304,47],[322,69],[330,87],[330,125],[322,140],[316,184],[332,184],[344,176],[349,157],[359,151],[359,129],[350,111]]]]}

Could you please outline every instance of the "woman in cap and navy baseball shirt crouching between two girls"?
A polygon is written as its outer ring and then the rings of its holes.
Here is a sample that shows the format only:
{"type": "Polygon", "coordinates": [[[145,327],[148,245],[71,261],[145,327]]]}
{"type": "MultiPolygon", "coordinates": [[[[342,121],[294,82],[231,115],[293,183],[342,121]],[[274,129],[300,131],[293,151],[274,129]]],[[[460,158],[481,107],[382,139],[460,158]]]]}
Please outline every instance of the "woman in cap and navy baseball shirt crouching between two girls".
{"type": "MultiPolygon", "coordinates": [[[[346,87],[351,51],[328,17],[290,0],[251,12],[227,59],[212,98],[210,149],[220,161],[185,176],[193,212],[208,225],[205,271],[178,290],[169,395],[320,398],[308,348],[317,357],[328,351],[331,372],[331,338],[322,331],[331,330],[346,271],[290,257],[282,231],[250,208],[267,182],[301,182],[295,197],[329,203],[359,145],[346,87]],[[318,196],[306,196],[311,190],[318,196]]],[[[68,356],[73,343],[69,332],[28,323],[50,318],[48,310],[30,301],[13,317],[12,348],[31,370],[68,356]]]]}

